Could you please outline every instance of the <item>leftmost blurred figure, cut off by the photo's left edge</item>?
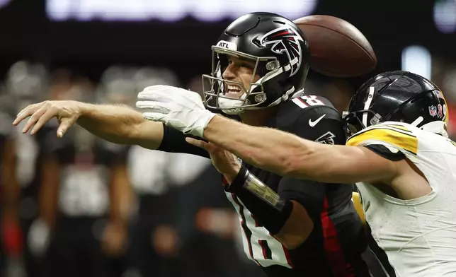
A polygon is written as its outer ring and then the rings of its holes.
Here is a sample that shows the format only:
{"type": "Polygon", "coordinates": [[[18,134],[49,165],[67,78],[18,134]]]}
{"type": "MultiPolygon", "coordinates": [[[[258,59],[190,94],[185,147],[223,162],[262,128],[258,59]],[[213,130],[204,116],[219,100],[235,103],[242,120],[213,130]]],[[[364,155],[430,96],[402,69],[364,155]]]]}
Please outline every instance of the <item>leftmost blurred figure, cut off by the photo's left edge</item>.
{"type": "MultiPolygon", "coordinates": [[[[45,98],[47,93],[47,70],[42,64],[32,64],[28,61],[18,61],[9,69],[4,93],[1,94],[1,111],[4,118],[13,117],[23,107],[45,98]]],[[[8,122],[1,123],[3,129],[8,129],[8,122]]],[[[2,230],[6,249],[15,253],[13,264],[8,264],[7,274],[14,274],[25,267],[28,276],[38,276],[40,259],[30,252],[27,236],[30,225],[37,216],[37,194],[40,179],[40,151],[42,135],[52,127],[45,126],[36,136],[21,136],[21,129],[8,131],[3,145],[2,179],[4,182],[4,204],[8,216],[4,216],[2,230]]],[[[23,274],[19,273],[19,274],[23,274]]],[[[21,276],[21,275],[20,275],[21,276]]]]}

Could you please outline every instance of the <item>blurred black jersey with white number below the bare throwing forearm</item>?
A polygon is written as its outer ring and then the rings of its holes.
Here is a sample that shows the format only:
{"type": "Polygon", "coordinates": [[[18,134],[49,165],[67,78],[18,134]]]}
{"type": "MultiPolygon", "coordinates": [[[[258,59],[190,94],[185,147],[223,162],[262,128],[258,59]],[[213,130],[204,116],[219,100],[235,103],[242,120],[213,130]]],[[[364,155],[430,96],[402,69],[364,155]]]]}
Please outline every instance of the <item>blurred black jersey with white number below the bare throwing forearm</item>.
{"type": "MultiPolygon", "coordinates": [[[[43,159],[59,164],[59,213],[62,217],[106,216],[113,170],[126,163],[128,146],[116,145],[86,135],[86,146],[72,129],[62,139],[49,134],[43,159]]],[[[79,131],[79,130],[78,130],[79,131]]],[[[85,131],[85,130],[84,130],[85,131]]]]}

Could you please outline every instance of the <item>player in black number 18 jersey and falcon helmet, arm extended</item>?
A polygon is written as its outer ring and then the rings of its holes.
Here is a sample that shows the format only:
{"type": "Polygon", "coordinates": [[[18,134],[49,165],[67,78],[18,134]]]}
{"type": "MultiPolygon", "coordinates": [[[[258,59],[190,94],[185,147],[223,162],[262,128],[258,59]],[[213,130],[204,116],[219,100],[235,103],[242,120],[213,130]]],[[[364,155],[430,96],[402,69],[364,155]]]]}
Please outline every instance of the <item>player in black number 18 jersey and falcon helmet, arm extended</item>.
{"type": "MultiPolygon", "coordinates": [[[[302,95],[309,47],[290,20],[273,13],[241,16],[212,50],[212,73],[204,76],[210,83],[209,89],[203,88],[207,107],[239,116],[245,124],[320,143],[345,143],[343,121],[331,103],[302,95]]],[[[147,89],[139,97],[147,100],[147,89]]],[[[46,101],[25,108],[13,124],[27,117],[24,133],[31,129],[35,134],[57,117],[59,137],[77,123],[115,143],[210,158],[207,151],[187,143],[180,131],[145,120],[129,107],[46,101]]],[[[227,197],[239,213],[245,252],[268,276],[370,276],[362,257],[365,234],[350,201],[350,186],[280,177],[244,164],[254,182],[272,196],[264,201],[256,191],[236,184],[236,174],[230,174],[234,172],[224,172],[229,168],[226,161],[212,158],[224,173],[227,197]],[[279,196],[284,201],[278,202],[279,196]]]]}

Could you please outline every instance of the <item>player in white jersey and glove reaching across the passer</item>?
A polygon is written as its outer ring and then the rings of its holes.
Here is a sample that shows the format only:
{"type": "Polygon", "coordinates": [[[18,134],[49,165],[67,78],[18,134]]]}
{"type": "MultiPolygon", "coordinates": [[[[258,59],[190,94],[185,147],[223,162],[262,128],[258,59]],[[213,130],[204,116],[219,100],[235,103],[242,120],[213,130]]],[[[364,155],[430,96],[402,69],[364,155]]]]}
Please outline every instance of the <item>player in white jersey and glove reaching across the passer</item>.
{"type": "MultiPolygon", "coordinates": [[[[361,86],[345,114],[347,146],[234,122],[204,110],[198,95],[179,88],[147,88],[139,100],[147,107],[144,117],[203,137],[210,143],[187,140],[212,155],[230,151],[295,178],[356,182],[372,249],[382,250],[377,257],[389,276],[456,276],[456,144],[446,132],[443,94],[426,78],[389,71],[361,86]]],[[[248,170],[239,175],[251,186],[248,170]]]]}

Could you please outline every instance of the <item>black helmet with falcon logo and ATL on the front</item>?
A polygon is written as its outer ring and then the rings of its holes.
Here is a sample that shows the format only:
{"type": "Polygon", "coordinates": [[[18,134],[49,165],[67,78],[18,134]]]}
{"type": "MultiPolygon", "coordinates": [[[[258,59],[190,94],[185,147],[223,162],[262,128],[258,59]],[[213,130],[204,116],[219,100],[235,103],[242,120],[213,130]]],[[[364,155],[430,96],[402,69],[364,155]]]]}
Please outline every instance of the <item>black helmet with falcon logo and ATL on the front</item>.
{"type": "Polygon", "coordinates": [[[227,114],[277,105],[302,91],[308,70],[309,44],[295,23],[275,13],[249,13],[234,20],[212,46],[212,73],[203,75],[205,105],[227,114]],[[249,88],[224,80],[229,55],[253,61],[253,76],[261,78],[253,82],[252,76],[249,88]],[[241,100],[224,95],[230,84],[244,90],[241,100]],[[236,105],[221,107],[229,101],[236,105]]]}

